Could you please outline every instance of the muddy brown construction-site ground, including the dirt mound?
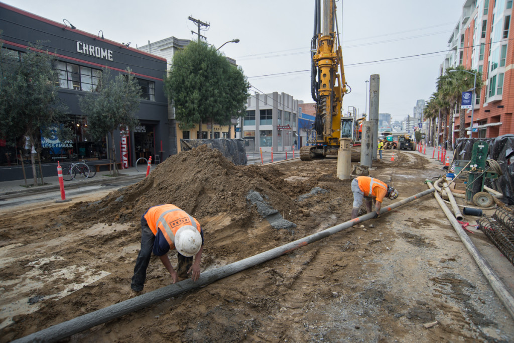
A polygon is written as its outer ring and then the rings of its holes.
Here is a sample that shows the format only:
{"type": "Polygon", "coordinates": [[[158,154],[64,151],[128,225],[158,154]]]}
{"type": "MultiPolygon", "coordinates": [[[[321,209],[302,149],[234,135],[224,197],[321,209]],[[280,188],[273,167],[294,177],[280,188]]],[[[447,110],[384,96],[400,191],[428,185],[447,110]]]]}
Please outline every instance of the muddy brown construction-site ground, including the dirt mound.
{"type": "MultiPolygon", "coordinates": [[[[398,200],[443,174],[417,153],[391,155],[371,175],[397,188],[398,200]]],[[[335,159],[234,166],[200,147],[108,195],[1,211],[0,342],[126,300],[150,206],[172,203],[199,220],[205,271],[345,222],[352,202],[335,159]],[[310,194],[316,187],[328,192],[310,194]],[[272,227],[250,191],[296,227],[272,227]]],[[[364,224],[64,341],[514,341],[514,321],[432,195],[364,224]]],[[[514,290],[514,267],[472,231],[514,290]]],[[[144,292],[170,280],[152,257],[144,292]]]]}

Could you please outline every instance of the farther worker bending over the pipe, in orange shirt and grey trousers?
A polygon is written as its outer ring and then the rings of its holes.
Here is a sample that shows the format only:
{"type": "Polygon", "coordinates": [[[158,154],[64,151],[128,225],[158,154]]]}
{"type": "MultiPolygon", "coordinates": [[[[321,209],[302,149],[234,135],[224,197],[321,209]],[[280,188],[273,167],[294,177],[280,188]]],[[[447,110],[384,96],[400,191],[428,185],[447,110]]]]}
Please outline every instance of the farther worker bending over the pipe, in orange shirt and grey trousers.
{"type": "Polygon", "coordinates": [[[366,210],[368,213],[372,211],[372,201],[375,198],[375,217],[380,214],[380,206],[384,197],[395,200],[398,192],[393,187],[370,176],[358,176],[352,180],[352,192],[354,193],[354,203],[352,208],[352,219],[359,216],[359,207],[362,205],[362,199],[366,198],[366,210]]]}

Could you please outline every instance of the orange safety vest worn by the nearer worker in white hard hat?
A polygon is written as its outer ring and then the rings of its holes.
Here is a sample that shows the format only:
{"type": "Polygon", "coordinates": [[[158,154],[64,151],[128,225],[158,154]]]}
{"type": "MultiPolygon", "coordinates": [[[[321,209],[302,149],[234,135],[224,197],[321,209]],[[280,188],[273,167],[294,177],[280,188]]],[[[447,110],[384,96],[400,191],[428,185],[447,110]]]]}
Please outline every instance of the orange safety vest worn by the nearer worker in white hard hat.
{"type": "Polygon", "coordinates": [[[171,204],[150,207],[144,214],[144,219],[155,236],[157,236],[157,230],[162,232],[170,249],[175,248],[175,234],[182,226],[191,225],[201,233],[200,223],[196,219],[171,204]]]}

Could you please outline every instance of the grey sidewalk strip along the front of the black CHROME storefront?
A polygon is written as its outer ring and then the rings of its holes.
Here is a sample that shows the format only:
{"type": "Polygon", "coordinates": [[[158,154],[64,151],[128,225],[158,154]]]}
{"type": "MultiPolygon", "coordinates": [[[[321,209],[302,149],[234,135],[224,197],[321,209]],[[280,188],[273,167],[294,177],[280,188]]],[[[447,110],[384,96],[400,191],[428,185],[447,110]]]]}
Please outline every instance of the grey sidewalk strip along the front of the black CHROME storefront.
{"type": "MultiPolygon", "coordinates": [[[[120,178],[143,178],[146,176],[146,167],[139,166],[139,172],[135,167],[129,167],[127,169],[119,170],[118,177],[109,176],[109,171],[102,170],[92,178],[87,179],[77,179],[71,181],[64,181],[64,189],[74,189],[78,187],[84,187],[84,185],[90,184],[101,184],[101,183],[109,183],[113,181],[113,179],[119,180],[120,178]]],[[[152,165],[152,171],[155,169],[155,166],[152,165]]],[[[49,176],[43,178],[45,185],[44,186],[36,186],[33,187],[34,180],[32,178],[27,179],[28,187],[25,187],[24,179],[13,180],[13,181],[4,181],[0,182],[0,198],[13,194],[29,194],[29,193],[38,193],[49,190],[59,190],[59,177],[57,176],[57,170],[55,176],[49,176]]],[[[41,183],[41,179],[38,179],[38,182],[41,183]]]]}

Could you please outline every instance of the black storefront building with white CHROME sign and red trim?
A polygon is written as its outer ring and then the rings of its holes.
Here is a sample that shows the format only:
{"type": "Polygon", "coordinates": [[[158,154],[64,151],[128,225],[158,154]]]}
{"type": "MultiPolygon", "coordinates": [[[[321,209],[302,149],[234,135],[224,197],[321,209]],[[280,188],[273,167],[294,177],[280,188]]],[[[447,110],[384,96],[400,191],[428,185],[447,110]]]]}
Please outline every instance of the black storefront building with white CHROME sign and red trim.
{"type": "MultiPolygon", "coordinates": [[[[108,148],[113,143],[114,158],[123,166],[134,166],[140,157],[152,156],[155,160],[159,156],[162,161],[170,151],[176,151],[176,147],[169,146],[172,140],[168,100],[163,92],[166,59],[102,39],[103,32],[96,35],[72,29],[64,22],[53,22],[3,3],[0,3],[0,30],[3,48],[10,53],[25,52],[29,44],[40,42],[58,60],[59,96],[68,106],[68,122],[62,124],[73,128],[75,138],[61,142],[56,137],[41,137],[43,176],[56,175],[57,161],[64,167],[72,160],[81,159],[87,159],[90,165],[105,165],[110,157],[108,148]],[[125,74],[126,67],[131,68],[142,90],[137,113],[140,124],[134,132],[115,132],[114,142],[110,136],[93,141],[87,132],[87,113],[80,110],[78,96],[95,88],[102,69],[110,69],[115,77],[118,73],[125,74]]],[[[27,178],[31,178],[30,147],[25,146],[24,137],[16,141],[0,139],[0,181],[23,178],[22,160],[27,178]]],[[[101,170],[106,168],[102,166],[101,170]]]]}

